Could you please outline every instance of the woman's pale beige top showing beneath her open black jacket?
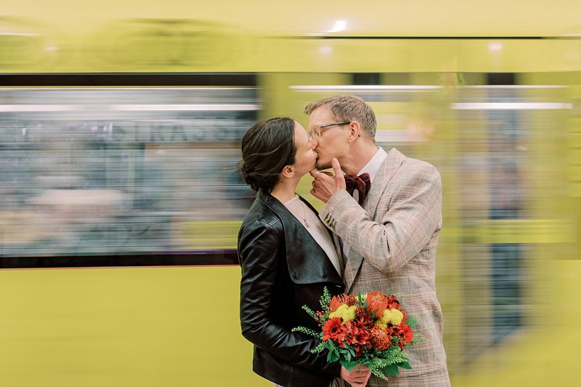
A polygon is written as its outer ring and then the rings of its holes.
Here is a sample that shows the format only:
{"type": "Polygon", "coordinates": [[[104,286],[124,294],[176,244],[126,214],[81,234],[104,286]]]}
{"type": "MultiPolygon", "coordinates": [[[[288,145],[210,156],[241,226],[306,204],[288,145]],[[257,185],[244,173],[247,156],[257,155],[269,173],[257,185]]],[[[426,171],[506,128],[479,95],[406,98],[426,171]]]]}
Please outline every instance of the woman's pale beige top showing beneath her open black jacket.
{"type": "Polygon", "coordinates": [[[337,273],[341,275],[339,269],[339,257],[335,252],[333,240],[327,231],[327,227],[325,227],[321,222],[318,215],[311,211],[311,209],[300,200],[297,194],[295,194],[295,197],[284,203],[284,205],[291,214],[295,215],[299,222],[307,229],[309,234],[311,234],[313,239],[321,246],[325,253],[327,253],[331,263],[335,266],[335,270],[337,270],[337,273]]]}

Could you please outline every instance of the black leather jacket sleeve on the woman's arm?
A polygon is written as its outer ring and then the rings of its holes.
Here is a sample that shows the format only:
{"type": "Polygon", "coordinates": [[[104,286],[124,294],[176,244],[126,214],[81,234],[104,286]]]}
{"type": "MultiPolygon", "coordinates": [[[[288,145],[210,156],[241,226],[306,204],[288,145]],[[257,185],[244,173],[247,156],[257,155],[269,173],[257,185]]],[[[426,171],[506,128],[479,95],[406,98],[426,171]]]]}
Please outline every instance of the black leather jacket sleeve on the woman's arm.
{"type": "Polygon", "coordinates": [[[326,351],[311,353],[311,349],[318,344],[317,339],[291,332],[271,318],[281,241],[284,243],[282,227],[277,232],[273,225],[262,220],[254,220],[241,231],[238,248],[242,266],[242,335],[257,347],[293,366],[339,376],[340,364],[329,364],[326,351]]]}

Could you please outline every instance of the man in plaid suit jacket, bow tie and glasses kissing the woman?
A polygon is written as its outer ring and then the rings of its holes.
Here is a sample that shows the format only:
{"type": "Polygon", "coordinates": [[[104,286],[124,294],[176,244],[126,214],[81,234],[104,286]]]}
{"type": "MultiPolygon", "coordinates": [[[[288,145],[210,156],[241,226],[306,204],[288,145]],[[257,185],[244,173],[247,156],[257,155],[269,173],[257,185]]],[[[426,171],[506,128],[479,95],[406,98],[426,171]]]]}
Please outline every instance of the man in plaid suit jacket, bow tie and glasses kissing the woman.
{"type": "Polygon", "coordinates": [[[350,294],[394,293],[422,342],[408,347],[411,370],[369,386],[449,386],[442,343],[442,310],[436,298],[436,247],[442,226],[442,184],[431,164],[375,145],[376,120],[360,97],[312,102],[309,134],[317,140],[313,196],[325,202],[320,218],[343,244],[343,282],[350,294]],[[353,197],[346,178],[353,180],[353,197]],[[364,173],[368,174],[365,176],[364,173]],[[357,178],[360,175],[361,178],[357,178]],[[369,188],[367,180],[371,182],[369,188]]]}

